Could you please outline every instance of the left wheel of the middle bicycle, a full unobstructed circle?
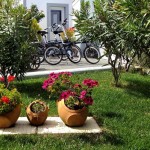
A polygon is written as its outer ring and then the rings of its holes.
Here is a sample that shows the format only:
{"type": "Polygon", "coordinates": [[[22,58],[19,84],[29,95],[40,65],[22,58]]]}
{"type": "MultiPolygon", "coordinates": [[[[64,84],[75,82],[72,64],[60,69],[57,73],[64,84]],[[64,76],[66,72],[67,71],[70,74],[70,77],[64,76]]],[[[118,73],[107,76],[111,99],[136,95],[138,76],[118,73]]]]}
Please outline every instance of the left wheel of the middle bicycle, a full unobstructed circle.
{"type": "Polygon", "coordinates": [[[62,52],[56,46],[48,47],[45,50],[44,59],[50,65],[57,65],[62,60],[62,52]]]}

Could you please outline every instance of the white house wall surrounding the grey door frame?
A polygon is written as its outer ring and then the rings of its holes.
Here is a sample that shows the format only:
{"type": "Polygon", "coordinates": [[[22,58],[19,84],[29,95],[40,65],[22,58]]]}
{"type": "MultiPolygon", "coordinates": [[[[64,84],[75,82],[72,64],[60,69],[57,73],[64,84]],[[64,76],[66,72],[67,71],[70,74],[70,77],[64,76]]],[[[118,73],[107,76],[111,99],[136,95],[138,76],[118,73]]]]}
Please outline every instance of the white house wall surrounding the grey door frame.
{"type": "MultiPolygon", "coordinates": [[[[23,0],[21,0],[23,1],[23,0]]],[[[72,26],[72,0],[26,0],[26,7],[29,9],[32,4],[36,4],[39,11],[43,11],[45,14],[45,18],[43,18],[40,22],[41,27],[47,28],[47,3],[53,3],[53,4],[69,4],[69,27],[72,26]]]]}

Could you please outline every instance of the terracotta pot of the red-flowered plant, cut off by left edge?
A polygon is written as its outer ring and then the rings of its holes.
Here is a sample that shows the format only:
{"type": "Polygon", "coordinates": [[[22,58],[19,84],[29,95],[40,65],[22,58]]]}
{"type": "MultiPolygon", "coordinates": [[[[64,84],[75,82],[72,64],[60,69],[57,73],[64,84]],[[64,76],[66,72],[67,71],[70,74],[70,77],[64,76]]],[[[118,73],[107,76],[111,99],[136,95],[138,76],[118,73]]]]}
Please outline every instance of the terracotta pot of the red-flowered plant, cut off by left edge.
{"type": "Polygon", "coordinates": [[[9,128],[16,123],[21,113],[21,105],[6,114],[0,115],[0,128],[9,128]]]}

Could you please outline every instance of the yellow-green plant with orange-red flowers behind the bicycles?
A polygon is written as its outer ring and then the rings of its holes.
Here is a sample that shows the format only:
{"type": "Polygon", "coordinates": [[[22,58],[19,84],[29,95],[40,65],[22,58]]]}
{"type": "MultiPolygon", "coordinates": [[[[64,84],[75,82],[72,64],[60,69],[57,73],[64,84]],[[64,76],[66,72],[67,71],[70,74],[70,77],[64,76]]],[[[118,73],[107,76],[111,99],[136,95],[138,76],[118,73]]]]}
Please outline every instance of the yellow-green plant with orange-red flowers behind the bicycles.
{"type": "MultiPolygon", "coordinates": [[[[75,34],[74,27],[72,27],[72,28],[67,28],[65,31],[66,31],[66,35],[67,35],[67,37],[68,37],[68,39],[69,39],[70,41],[75,41],[75,40],[76,40],[75,35],[74,35],[74,34],[75,34]]],[[[61,37],[62,37],[63,40],[66,40],[66,39],[65,39],[65,35],[64,35],[63,32],[61,33],[61,37]]]]}

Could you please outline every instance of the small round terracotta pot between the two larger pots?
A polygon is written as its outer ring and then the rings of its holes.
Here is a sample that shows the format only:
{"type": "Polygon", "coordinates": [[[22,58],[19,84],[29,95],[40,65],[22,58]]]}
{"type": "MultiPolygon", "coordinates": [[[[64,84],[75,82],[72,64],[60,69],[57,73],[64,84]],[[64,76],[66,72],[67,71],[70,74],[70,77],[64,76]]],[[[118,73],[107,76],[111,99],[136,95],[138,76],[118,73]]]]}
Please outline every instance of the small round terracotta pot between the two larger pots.
{"type": "Polygon", "coordinates": [[[26,108],[26,115],[27,115],[27,118],[30,122],[31,125],[34,125],[34,126],[39,126],[39,125],[42,125],[44,124],[44,122],[46,121],[47,119],[47,116],[48,116],[48,107],[47,105],[42,102],[42,101],[33,101],[31,104],[29,104],[29,106],[26,108]],[[39,112],[39,113],[34,113],[32,110],[31,110],[31,106],[35,103],[35,102],[38,102],[40,103],[41,105],[44,106],[44,111],[42,112],[39,112]]]}

